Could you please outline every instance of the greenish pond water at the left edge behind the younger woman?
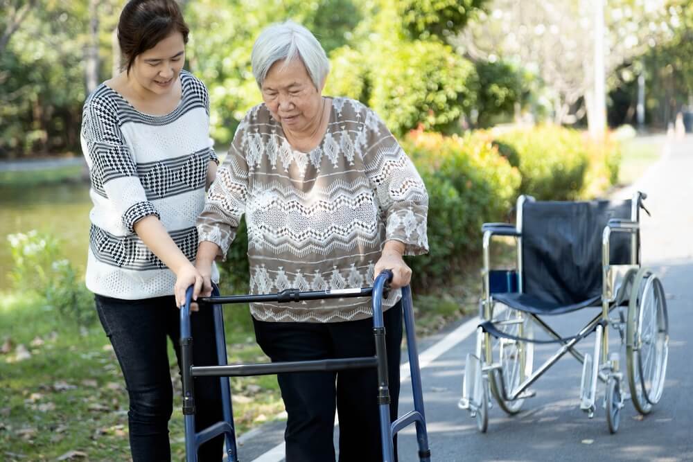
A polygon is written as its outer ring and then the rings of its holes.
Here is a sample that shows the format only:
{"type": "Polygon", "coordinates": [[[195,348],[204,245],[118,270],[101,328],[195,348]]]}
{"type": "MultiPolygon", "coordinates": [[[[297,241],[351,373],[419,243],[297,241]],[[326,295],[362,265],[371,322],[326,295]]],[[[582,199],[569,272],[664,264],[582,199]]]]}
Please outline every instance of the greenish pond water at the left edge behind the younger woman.
{"type": "Polygon", "coordinates": [[[12,267],[7,236],[31,229],[60,239],[63,256],[84,271],[89,245],[89,185],[53,184],[0,187],[0,290],[10,287],[12,267]]]}

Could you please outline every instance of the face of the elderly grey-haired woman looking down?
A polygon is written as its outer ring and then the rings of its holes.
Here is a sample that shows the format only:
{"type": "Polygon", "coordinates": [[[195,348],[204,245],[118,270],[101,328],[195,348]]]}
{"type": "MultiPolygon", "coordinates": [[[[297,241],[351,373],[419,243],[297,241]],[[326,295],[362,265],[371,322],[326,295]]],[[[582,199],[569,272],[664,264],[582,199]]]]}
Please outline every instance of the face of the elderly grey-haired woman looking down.
{"type": "Polygon", "coordinates": [[[316,89],[299,59],[272,64],[262,97],[275,120],[292,132],[312,132],[322,112],[322,87],[316,89]]]}

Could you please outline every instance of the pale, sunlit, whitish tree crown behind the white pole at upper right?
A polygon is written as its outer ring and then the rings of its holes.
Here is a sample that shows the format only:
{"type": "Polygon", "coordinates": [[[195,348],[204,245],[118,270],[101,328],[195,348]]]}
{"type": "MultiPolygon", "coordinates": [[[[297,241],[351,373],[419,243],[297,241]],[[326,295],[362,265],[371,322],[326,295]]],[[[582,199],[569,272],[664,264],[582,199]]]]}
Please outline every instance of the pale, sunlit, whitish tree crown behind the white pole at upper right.
{"type": "MultiPolygon", "coordinates": [[[[536,69],[554,92],[556,123],[574,123],[591,110],[585,107],[594,85],[591,6],[589,0],[493,0],[490,13],[482,12],[453,43],[476,59],[500,55],[536,69]]],[[[672,37],[677,17],[668,6],[667,0],[608,1],[606,75],[672,37]]]]}

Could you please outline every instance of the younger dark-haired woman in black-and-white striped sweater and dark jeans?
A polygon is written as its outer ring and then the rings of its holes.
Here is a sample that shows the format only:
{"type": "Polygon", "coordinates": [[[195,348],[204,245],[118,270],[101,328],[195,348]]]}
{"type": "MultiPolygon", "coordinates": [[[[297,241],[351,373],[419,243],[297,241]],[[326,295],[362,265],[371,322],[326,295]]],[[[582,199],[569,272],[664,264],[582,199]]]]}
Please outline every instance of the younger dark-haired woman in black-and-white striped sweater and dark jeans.
{"type": "MultiPolygon", "coordinates": [[[[179,311],[202,277],[195,218],[218,159],[209,96],[184,71],[188,27],[174,0],[130,0],[118,24],[124,70],[87,98],[82,150],[91,199],[87,287],[130,397],[132,459],[170,461],[173,389],[166,337],[179,356],[179,311]],[[176,282],[177,281],[177,282],[176,282]],[[175,287],[174,287],[175,285],[175,287]]],[[[193,362],[216,364],[211,311],[193,314],[193,362]]],[[[219,380],[198,380],[198,429],[221,420],[219,380]]],[[[222,438],[200,447],[220,461],[222,438]]]]}

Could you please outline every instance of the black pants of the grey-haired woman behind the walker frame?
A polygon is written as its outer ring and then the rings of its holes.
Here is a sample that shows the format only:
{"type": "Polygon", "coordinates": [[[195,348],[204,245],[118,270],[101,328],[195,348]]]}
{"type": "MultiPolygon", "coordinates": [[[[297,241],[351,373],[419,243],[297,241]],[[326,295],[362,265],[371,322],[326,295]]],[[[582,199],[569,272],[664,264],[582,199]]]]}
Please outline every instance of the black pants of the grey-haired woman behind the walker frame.
{"type": "MultiPolygon", "coordinates": [[[[397,418],[402,307],[384,314],[390,419],[397,418]]],[[[254,320],[255,337],[272,362],[375,355],[373,320],[340,323],[254,320]]],[[[335,408],[340,418],[340,462],[383,460],[375,368],[277,376],[286,406],[286,462],[335,460],[335,408]]],[[[395,441],[396,460],[396,441],[395,441]]]]}

